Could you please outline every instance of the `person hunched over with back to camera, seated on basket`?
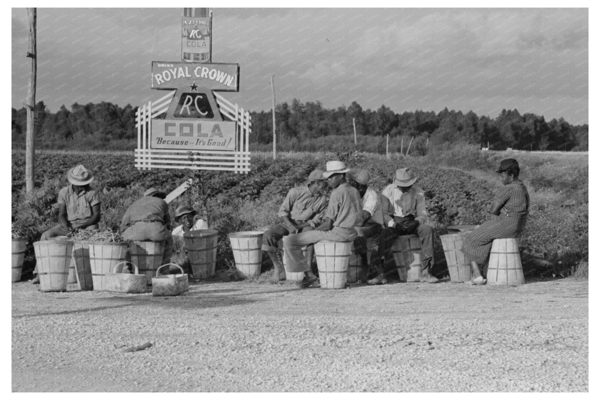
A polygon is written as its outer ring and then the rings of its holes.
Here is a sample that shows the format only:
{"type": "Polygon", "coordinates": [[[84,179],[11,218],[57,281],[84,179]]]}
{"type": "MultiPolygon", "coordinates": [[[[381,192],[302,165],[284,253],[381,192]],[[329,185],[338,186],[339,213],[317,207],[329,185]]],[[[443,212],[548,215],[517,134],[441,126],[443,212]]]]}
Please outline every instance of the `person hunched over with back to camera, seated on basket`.
{"type": "Polygon", "coordinates": [[[151,240],[166,242],[164,245],[162,264],[168,264],[173,254],[173,236],[171,236],[171,219],[169,204],[164,201],[164,192],[149,188],[140,199],[131,204],[121,220],[122,237],[125,240],[151,240]]]}

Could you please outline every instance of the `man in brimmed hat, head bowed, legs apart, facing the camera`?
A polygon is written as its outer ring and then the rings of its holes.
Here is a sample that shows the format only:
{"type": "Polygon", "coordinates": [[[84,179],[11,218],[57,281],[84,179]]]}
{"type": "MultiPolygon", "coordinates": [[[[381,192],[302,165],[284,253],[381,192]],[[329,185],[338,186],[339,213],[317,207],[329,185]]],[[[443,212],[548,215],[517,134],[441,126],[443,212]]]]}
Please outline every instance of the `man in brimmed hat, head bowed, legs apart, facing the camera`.
{"type": "MultiPolygon", "coordinates": [[[[427,212],[425,211],[425,193],[414,185],[416,182],[410,168],[396,170],[394,183],[385,187],[382,196],[387,200],[383,206],[383,222],[385,229],[380,235],[379,251],[375,257],[388,256],[394,239],[407,234],[417,234],[421,239],[421,273],[419,281],[435,283],[438,279],[431,275],[433,258],[433,227],[425,224],[427,212]]],[[[379,274],[368,283],[386,283],[383,275],[384,267],[377,264],[379,274]]]]}

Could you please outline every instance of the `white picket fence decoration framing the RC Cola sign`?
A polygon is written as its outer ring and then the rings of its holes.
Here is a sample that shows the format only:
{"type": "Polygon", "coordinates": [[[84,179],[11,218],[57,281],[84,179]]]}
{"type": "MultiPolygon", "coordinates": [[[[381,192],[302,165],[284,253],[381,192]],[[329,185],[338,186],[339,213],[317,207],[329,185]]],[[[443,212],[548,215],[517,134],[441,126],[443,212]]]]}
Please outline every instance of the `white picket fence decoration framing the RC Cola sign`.
{"type": "Polygon", "coordinates": [[[193,151],[194,160],[190,160],[188,151],[177,149],[150,148],[150,121],[162,113],[166,113],[173,100],[175,91],[164,95],[156,101],[149,101],[138,107],[136,113],[137,149],[135,166],[139,170],[157,168],[220,170],[235,173],[250,172],[250,132],[252,123],[250,113],[238,104],[227,101],[220,94],[213,92],[217,99],[219,111],[230,121],[236,122],[235,151],[197,150],[193,151]]]}

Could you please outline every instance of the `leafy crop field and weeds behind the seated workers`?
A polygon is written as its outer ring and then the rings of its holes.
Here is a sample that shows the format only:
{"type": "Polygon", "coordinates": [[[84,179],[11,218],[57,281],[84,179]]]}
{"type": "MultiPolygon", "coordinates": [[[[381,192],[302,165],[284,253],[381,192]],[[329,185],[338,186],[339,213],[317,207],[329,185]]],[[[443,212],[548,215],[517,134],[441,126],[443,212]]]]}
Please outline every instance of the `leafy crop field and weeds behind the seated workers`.
{"type": "MultiPolygon", "coordinates": [[[[39,151],[36,154],[37,193],[25,196],[25,153],[12,152],[13,225],[26,234],[29,244],[56,224],[56,196],[67,185],[65,173],[77,164],[94,172],[92,187],[101,197],[100,228],[117,230],[125,209],[149,187],[172,191],[188,178],[193,187],[170,203],[174,215],[179,204],[189,204],[219,231],[217,270],[233,266],[227,234],[242,230],[266,230],[278,222],[277,209],[287,191],[302,184],[311,170],[325,169],[328,160],[346,161],[349,167],[365,168],[371,173],[370,186],[382,190],[392,182],[400,167],[412,167],[427,197],[430,224],[445,234],[452,224],[480,224],[490,218],[488,209],[500,187],[494,166],[506,157],[521,164],[521,178],[529,188],[530,216],[519,239],[526,278],[533,276],[586,276],[588,257],[588,166],[587,154],[568,152],[479,152],[455,148],[431,152],[427,157],[389,159],[379,154],[356,152],[282,153],[277,161],[272,154],[253,153],[248,175],[230,172],[190,170],[151,170],[133,167],[132,152],[39,151]],[[203,196],[202,196],[203,195],[203,196]],[[554,269],[539,269],[529,261],[545,258],[554,269]],[[583,274],[583,275],[582,275],[583,274]]],[[[435,240],[434,273],[447,275],[446,261],[439,239],[435,240]]],[[[24,274],[34,266],[31,246],[26,254],[24,274]]],[[[265,275],[271,262],[263,258],[265,275]]],[[[220,276],[227,276],[221,274],[220,276]]]]}

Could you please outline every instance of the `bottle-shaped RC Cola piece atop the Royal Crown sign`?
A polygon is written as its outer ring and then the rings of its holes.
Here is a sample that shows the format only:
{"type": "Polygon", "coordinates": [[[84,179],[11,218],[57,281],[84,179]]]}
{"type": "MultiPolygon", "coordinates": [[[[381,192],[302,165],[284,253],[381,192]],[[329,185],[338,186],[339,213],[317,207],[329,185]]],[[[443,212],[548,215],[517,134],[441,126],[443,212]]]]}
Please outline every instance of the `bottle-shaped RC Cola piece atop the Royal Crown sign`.
{"type": "Polygon", "coordinates": [[[181,17],[181,59],[211,62],[212,8],[184,8],[181,17]]]}

